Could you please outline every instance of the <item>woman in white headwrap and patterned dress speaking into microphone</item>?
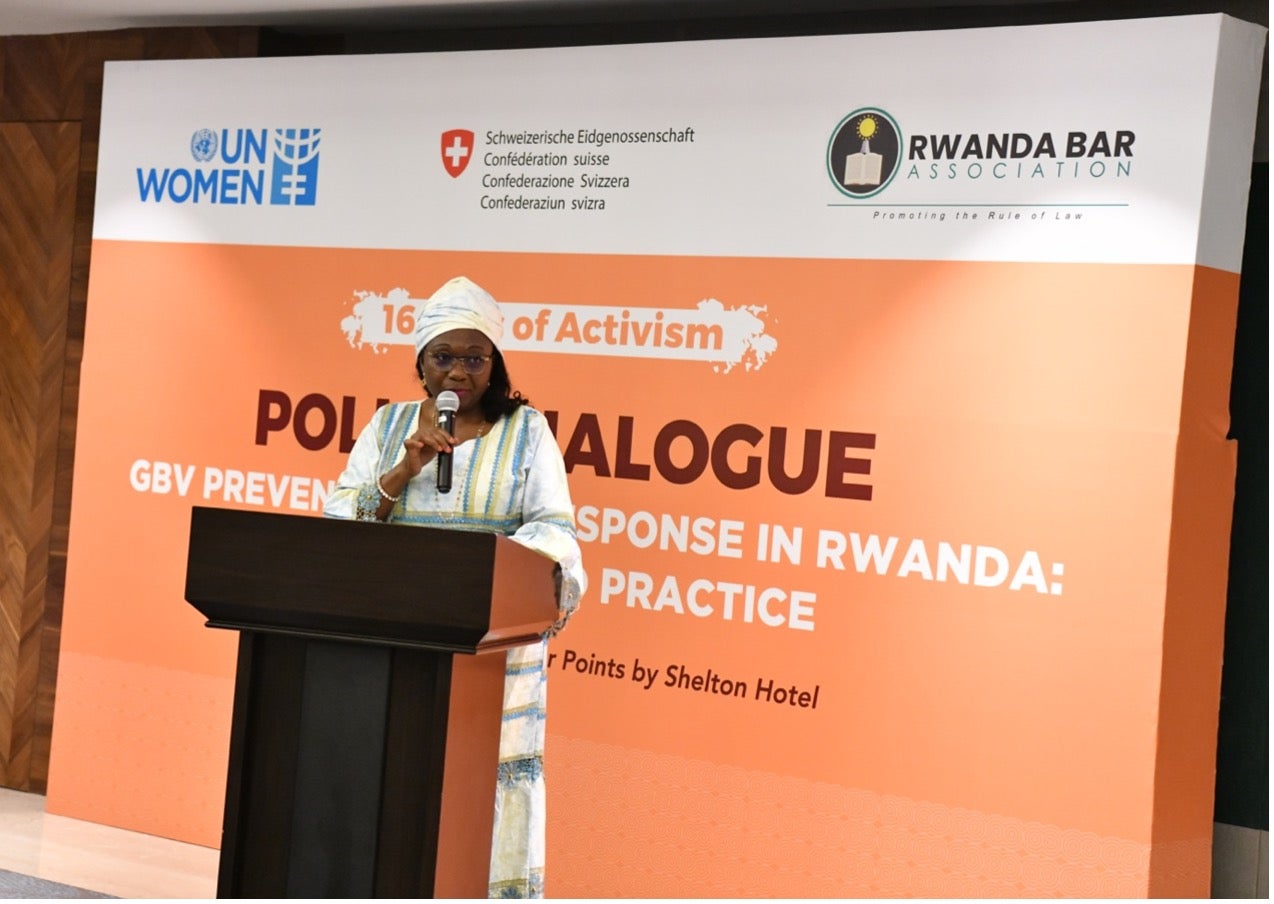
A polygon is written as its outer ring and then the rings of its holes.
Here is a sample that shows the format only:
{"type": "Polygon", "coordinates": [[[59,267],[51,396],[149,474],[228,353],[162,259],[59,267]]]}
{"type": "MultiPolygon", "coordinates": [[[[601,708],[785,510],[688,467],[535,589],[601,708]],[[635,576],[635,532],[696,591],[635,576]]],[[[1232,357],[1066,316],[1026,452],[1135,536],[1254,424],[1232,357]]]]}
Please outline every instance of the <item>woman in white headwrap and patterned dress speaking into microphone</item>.
{"type": "Polygon", "coordinates": [[[324,514],[494,531],[558,563],[558,620],[508,652],[488,885],[492,898],[541,898],[545,653],[586,578],[562,452],[544,415],[512,388],[503,325],[496,299],[464,276],[433,293],[415,323],[424,399],[377,409],[324,514]]]}

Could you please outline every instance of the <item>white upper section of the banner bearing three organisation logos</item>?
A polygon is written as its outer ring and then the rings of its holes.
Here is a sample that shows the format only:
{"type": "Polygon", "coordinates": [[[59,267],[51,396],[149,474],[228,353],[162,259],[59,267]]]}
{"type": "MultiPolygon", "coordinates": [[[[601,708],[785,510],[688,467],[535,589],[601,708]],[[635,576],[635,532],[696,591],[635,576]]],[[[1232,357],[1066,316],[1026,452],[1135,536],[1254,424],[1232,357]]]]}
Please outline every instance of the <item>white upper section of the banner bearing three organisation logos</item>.
{"type": "Polygon", "coordinates": [[[108,62],[94,237],[1237,271],[1264,41],[1200,15],[108,62]]]}

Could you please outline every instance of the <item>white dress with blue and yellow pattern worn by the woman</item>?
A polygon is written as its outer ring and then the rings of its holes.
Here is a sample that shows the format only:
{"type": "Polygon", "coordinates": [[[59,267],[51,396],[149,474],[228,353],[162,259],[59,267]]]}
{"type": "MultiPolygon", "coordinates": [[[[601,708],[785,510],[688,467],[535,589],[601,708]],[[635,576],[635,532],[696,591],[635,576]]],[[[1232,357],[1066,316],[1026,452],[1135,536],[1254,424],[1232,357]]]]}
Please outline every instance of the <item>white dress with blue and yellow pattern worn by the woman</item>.
{"type": "MultiPolygon", "coordinates": [[[[363,428],[324,505],[333,518],[375,519],[376,479],[404,456],[420,402],[391,402],[363,428]]],[[[461,531],[494,531],[555,559],[562,567],[555,633],[576,606],[586,578],[562,452],[544,415],[529,406],[501,418],[484,437],[452,452],[450,493],[438,493],[427,465],[394,504],[390,522],[461,531]]],[[[508,651],[499,775],[488,896],[544,896],[544,712],[548,638],[508,651]]]]}

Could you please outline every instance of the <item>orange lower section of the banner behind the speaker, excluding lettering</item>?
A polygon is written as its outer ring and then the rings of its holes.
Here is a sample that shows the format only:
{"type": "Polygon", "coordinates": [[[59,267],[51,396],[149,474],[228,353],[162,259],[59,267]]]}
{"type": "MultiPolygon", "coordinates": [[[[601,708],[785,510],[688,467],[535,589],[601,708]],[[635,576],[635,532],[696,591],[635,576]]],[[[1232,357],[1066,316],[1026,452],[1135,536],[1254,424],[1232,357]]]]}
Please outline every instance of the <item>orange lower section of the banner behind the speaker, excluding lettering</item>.
{"type": "MultiPolygon", "coordinates": [[[[456,274],[502,302],[757,306],[777,341],[763,367],[727,373],[508,354],[563,448],[596,418],[586,455],[568,455],[581,512],[739,522],[736,556],[585,542],[590,591],[553,644],[549,894],[1206,894],[1233,486],[1217,339],[1232,341],[1237,276],[1189,266],[94,242],[51,812],[219,843],[234,637],[182,600],[190,505],[251,507],[205,495],[211,469],[260,472],[262,508],[264,475],[276,490],[284,475],[335,477],[335,441],[256,443],[260,392],[336,410],[350,397],[340,427],[357,432],[377,399],[418,386],[406,346],[347,341],[353,293],[423,299],[456,274]],[[759,456],[762,480],[599,474],[615,472],[620,419],[636,466],[671,421],[710,439],[754,425],[766,438],[725,465],[759,456]],[[809,491],[766,479],[772,428],[787,430],[789,472],[820,432],[809,491]],[[852,452],[869,472],[850,477],[870,500],[824,494],[832,432],[874,435],[852,452]],[[190,475],[185,495],[177,476],[167,493],[135,489],[138,461],[189,469],[175,472],[190,475]],[[758,556],[776,526],[800,532],[799,563],[758,556]],[[896,537],[891,568],[860,573],[850,551],[843,570],[819,563],[820,537],[851,535],[896,537]],[[926,577],[941,544],[998,550],[1010,574],[1037,554],[1060,592],[926,577]],[[703,618],[603,602],[608,579],[637,572],[655,596],[666,576],[682,592],[703,579],[809,593],[813,630],[726,620],[720,593],[703,618]],[[1191,657],[1170,658],[1187,637],[1191,657]],[[563,667],[568,654],[624,675],[563,667]],[[638,662],[660,670],[648,689],[638,662]],[[670,666],[748,695],[665,686],[670,666]],[[817,688],[817,707],[758,700],[762,680],[817,688]],[[1158,848],[1173,852],[1158,879],[1156,845],[1175,845],[1158,848]]],[[[688,449],[670,453],[684,465],[688,449]]]]}

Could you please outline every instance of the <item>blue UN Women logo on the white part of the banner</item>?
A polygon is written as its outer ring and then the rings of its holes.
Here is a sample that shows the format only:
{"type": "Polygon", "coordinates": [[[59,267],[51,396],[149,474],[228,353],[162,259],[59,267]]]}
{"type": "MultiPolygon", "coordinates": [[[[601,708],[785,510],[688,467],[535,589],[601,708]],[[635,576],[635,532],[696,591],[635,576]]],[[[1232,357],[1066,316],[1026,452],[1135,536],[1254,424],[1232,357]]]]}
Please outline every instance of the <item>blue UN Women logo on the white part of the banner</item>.
{"type": "Polygon", "coordinates": [[[138,195],[153,204],[313,206],[321,129],[199,129],[194,164],[138,167],[138,195]]]}

